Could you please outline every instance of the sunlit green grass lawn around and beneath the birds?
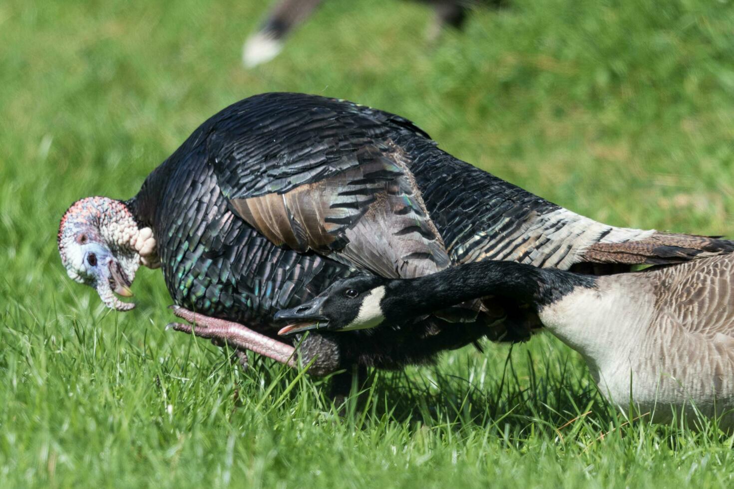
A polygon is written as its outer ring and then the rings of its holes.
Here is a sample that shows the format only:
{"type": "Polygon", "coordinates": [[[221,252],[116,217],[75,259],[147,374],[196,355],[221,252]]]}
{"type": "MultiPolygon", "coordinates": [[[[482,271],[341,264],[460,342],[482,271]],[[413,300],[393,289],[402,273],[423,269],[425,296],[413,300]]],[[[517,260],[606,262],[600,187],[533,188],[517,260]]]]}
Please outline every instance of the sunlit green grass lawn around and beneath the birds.
{"type": "Polygon", "coordinates": [[[610,224],[733,235],[733,2],[513,5],[426,48],[421,5],[327,2],[247,71],[261,2],[0,3],[0,486],[730,485],[734,438],[625,424],[550,337],[373,372],[340,417],[324,380],[165,332],[158,271],[126,314],[65,276],[73,200],[131,196],[200,122],[275,90],[402,114],[610,224]]]}

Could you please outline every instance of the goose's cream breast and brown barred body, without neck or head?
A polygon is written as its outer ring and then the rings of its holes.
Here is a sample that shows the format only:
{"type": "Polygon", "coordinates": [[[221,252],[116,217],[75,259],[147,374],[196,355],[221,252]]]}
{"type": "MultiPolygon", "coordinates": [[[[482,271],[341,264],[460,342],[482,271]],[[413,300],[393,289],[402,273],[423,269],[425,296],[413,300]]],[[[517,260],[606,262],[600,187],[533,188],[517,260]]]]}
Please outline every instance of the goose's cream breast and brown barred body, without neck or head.
{"type": "Polygon", "coordinates": [[[597,279],[539,309],[581,353],[619,408],[669,421],[695,410],[734,425],[734,259],[716,257],[597,279]],[[695,409],[694,409],[695,406],[695,409]]]}

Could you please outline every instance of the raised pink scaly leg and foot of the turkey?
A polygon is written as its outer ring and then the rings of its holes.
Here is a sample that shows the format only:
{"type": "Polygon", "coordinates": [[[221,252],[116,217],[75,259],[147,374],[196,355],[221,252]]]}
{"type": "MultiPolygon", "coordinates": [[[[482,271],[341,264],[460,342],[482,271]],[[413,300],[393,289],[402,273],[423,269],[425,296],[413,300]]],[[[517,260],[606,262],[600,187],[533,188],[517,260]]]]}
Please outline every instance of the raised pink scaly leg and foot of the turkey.
{"type": "MultiPolygon", "coordinates": [[[[195,334],[200,338],[211,339],[215,345],[226,343],[236,348],[236,350],[251,350],[289,367],[297,367],[295,348],[291,345],[286,345],[276,339],[266,337],[264,334],[252,331],[252,329],[240,323],[195,314],[181,306],[170,306],[170,309],[172,309],[174,315],[189,323],[195,323],[195,326],[169,323],[166,328],[172,328],[182,333],[195,334]]],[[[244,355],[244,351],[241,351],[241,353],[244,355]]],[[[239,357],[241,359],[241,356],[239,357]]]]}

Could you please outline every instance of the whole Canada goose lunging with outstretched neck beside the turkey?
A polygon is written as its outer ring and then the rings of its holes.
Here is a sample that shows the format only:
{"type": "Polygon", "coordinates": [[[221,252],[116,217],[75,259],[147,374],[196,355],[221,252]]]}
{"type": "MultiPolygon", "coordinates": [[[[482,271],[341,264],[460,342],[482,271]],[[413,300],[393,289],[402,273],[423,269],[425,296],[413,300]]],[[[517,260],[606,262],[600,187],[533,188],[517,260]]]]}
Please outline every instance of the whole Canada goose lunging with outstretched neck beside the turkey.
{"type": "MultiPolygon", "coordinates": [[[[529,304],[589,365],[606,398],[658,422],[695,408],[734,423],[734,257],[589,276],[488,260],[416,279],[355,277],[277,312],[280,334],[403,323],[472,298],[529,304]]],[[[457,325],[457,328],[461,326],[457,325]]]]}

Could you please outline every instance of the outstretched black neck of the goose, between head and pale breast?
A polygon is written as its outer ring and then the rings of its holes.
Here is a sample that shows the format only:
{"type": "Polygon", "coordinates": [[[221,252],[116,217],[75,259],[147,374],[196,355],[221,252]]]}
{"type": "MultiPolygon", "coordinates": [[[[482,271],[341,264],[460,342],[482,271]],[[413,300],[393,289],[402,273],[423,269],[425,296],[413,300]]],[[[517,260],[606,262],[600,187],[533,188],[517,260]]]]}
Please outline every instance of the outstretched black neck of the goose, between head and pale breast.
{"type": "Polygon", "coordinates": [[[393,315],[414,317],[493,295],[535,309],[558,301],[576,287],[594,287],[593,276],[517,262],[484,261],[417,279],[399,279],[386,287],[383,307],[393,315]]]}

